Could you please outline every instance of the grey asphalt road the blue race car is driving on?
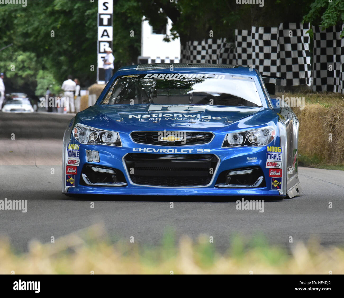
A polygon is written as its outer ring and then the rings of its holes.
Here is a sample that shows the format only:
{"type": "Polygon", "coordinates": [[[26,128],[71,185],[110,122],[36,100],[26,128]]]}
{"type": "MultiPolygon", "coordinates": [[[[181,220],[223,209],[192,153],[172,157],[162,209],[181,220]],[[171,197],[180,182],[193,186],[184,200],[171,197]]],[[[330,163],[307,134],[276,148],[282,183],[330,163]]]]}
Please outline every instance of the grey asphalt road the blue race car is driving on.
{"type": "Polygon", "coordinates": [[[294,245],[288,242],[290,236],[293,243],[313,236],[326,246],[344,243],[344,171],[299,167],[303,195],[265,201],[264,213],[236,210],[238,198],[231,197],[66,197],[62,138],[72,117],[0,112],[0,200],[28,200],[26,213],[0,210],[0,234],[19,251],[26,251],[32,239],[49,242],[51,236],[56,239],[98,222],[105,223],[112,237],[129,241],[134,236],[148,245],[160,243],[166,228],[173,228],[177,238],[213,236],[220,251],[228,248],[234,233],[262,232],[270,243],[286,248],[294,245]]]}

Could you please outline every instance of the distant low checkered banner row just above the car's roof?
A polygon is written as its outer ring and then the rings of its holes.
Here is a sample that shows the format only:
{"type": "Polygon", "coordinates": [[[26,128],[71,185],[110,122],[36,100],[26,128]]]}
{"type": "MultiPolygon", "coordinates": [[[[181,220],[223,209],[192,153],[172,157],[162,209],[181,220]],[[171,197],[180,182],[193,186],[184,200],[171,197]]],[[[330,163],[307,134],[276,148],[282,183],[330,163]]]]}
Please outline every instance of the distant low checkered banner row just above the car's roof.
{"type": "Polygon", "coordinates": [[[189,41],[181,46],[182,63],[235,64],[234,45],[226,38],[189,41]]]}

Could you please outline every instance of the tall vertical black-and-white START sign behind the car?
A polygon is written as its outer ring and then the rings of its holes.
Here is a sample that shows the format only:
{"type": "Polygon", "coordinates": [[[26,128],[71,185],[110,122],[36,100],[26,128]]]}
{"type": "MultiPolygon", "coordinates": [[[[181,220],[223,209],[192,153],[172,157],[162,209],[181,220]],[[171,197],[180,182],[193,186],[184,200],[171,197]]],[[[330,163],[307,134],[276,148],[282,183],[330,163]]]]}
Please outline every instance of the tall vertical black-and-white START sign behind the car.
{"type": "Polygon", "coordinates": [[[98,0],[97,82],[104,83],[105,48],[112,49],[113,0],[98,0]]]}

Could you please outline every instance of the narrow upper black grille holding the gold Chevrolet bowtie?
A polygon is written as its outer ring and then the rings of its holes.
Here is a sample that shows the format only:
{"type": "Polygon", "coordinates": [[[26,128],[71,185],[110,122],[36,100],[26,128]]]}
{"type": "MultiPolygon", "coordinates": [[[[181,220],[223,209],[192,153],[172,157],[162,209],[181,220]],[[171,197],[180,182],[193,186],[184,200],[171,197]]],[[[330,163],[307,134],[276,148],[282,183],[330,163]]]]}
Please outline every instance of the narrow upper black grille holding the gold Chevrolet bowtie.
{"type": "Polygon", "coordinates": [[[134,142],[160,146],[186,146],[207,144],[212,140],[214,136],[212,133],[198,131],[133,131],[130,135],[134,142]],[[161,136],[169,135],[177,137],[177,140],[161,140],[161,136]]]}

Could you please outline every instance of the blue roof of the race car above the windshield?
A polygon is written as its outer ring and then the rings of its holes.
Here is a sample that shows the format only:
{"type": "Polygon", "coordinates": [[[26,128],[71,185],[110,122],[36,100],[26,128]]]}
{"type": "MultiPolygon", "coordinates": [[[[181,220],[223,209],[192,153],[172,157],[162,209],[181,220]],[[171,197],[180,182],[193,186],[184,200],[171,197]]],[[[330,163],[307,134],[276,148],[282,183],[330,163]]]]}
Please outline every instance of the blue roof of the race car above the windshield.
{"type": "MultiPolygon", "coordinates": [[[[205,63],[154,63],[154,64],[139,64],[139,65],[129,65],[123,66],[117,70],[123,74],[137,74],[137,73],[147,73],[147,72],[165,72],[165,73],[175,73],[175,72],[205,72],[205,73],[226,73],[244,76],[257,76],[256,71],[252,71],[252,68],[227,65],[227,64],[205,64],[205,63]],[[172,68],[171,70],[170,68],[172,68]]],[[[118,74],[121,75],[121,74],[118,74]]]]}

